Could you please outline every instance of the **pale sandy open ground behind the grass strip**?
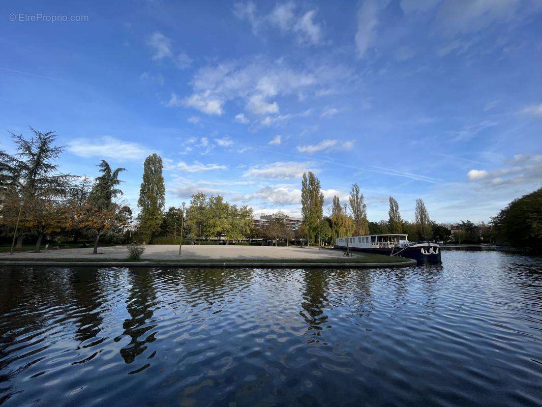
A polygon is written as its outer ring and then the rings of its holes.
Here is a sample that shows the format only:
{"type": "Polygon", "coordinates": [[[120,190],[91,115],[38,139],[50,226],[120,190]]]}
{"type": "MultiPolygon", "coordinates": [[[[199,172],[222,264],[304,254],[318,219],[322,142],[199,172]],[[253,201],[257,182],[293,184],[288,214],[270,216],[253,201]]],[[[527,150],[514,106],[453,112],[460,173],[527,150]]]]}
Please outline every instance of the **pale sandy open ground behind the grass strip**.
{"type": "MultiPolygon", "coordinates": [[[[183,245],[179,257],[179,246],[146,245],[141,258],[147,259],[324,259],[343,257],[341,250],[318,249],[318,247],[273,247],[273,246],[235,246],[235,245],[183,245]]],[[[98,255],[92,254],[92,247],[86,249],[49,249],[41,253],[15,252],[0,253],[0,260],[10,258],[40,259],[124,259],[128,255],[126,246],[99,247],[98,255]]]]}

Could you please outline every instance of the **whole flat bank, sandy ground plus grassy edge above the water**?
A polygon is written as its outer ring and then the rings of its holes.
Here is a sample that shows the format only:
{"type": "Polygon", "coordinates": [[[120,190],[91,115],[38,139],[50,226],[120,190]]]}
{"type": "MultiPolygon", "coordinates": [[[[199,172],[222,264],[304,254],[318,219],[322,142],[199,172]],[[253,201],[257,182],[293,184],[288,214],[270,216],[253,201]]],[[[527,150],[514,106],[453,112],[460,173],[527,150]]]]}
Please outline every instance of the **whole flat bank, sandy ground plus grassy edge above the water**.
{"type": "Polygon", "coordinates": [[[273,246],[183,246],[147,245],[140,261],[127,260],[126,246],[101,247],[98,255],[92,248],[59,249],[40,253],[0,253],[0,265],[92,265],[92,266],[230,266],[230,267],[375,267],[410,266],[410,259],[353,253],[344,257],[343,251],[318,247],[273,246]]]}

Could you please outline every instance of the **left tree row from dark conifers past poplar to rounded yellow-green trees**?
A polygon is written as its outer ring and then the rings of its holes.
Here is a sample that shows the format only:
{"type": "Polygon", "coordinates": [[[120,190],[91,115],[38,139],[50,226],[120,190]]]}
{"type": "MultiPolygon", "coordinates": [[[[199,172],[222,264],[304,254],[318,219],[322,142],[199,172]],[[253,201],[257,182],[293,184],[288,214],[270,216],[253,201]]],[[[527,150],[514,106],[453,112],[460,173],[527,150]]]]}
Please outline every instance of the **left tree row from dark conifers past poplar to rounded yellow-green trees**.
{"type": "Polygon", "coordinates": [[[30,130],[30,138],[12,134],[16,154],[0,151],[0,229],[3,240],[13,237],[18,249],[31,241],[38,252],[47,237],[73,244],[84,239],[94,253],[100,241],[178,244],[183,227],[184,236],[199,242],[202,237],[239,240],[251,232],[252,208],[230,205],[220,195],[197,193],[188,208],[183,203],[166,211],[163,164],[157,154],[144,162],[139,214],[133,219],[120,189],[124,168],[101,160],[94,179],[61,173],[55,161],[64,149],[55,145],[55,133],[30,130]]]}

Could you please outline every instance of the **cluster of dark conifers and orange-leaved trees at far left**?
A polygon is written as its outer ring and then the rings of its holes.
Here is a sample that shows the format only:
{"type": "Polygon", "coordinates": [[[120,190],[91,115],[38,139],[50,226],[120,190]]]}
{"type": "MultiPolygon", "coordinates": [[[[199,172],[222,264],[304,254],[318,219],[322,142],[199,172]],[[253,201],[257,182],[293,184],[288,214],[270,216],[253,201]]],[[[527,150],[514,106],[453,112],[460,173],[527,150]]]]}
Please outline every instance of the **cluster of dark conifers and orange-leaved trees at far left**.
{"type": "Polygon", "coordinates": [[[74,241],[85,236],[97,253],[100,238],[118,239],[130,223],[132,211],[120,200],[119,174],[101,160],[99,175],[63,174],[56,159],[63,151],[54,145],[55,133],[30,128],[32,136],[12,134],[16,154],[0,152],[0,227],[22,248],[23,240],[35,241],[40,251],[44,237],[69,234],[74,241]]]}

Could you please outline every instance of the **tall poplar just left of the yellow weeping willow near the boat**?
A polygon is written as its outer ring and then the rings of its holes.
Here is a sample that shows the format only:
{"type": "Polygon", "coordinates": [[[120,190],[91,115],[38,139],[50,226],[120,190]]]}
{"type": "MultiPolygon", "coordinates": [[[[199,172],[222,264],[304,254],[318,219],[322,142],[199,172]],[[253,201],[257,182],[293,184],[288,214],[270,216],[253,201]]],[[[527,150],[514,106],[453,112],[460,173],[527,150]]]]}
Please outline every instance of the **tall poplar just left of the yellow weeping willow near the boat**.
{"type": "Polygon", "coordinates": [[[301,213],[308,230],[309,240],[314,241],[314,237],[318,233],[318,222],[322,219],[323,207],[324,194],[320,192],[320,180],[311,171],[303,173],[301,213]]]}

